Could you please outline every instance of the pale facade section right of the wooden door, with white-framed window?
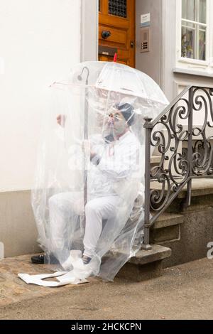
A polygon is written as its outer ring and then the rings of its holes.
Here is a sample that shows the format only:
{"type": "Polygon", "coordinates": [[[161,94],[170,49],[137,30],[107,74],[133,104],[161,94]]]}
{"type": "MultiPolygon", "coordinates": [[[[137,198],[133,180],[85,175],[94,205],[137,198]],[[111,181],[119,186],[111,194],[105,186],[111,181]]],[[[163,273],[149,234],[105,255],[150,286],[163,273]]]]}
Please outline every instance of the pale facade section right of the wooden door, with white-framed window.
{"type": "Polygon", "coordinates": [[[137,41],[146,13],[151,14],[151,50],[136,51],[136,68],[151,75],[170,101],[187,85],[212,87],[213,1],[136,0],[137,41]]]}

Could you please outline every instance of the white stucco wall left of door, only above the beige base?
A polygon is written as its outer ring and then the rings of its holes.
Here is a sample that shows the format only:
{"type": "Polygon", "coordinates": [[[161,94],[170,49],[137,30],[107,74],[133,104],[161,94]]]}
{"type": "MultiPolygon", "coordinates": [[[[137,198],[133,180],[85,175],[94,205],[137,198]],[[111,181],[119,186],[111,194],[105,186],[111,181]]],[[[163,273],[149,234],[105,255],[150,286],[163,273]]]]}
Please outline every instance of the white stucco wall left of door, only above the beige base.
{"type": "Polygon", "coordinates": [[[48,85],[80,61],[80,0],[0,0],[0,191],[33,185],[48,85]]]}

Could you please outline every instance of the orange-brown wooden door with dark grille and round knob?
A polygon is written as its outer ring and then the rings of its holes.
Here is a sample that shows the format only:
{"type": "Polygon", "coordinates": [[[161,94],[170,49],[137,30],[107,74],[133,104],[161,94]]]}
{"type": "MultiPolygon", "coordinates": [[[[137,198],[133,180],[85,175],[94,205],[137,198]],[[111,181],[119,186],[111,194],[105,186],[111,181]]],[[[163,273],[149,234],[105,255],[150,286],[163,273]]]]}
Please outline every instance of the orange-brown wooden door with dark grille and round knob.
{"type": "Polygon", "coordinates": [[[99,0],[99,60],[135,67],[135,0],[99,0]]]}

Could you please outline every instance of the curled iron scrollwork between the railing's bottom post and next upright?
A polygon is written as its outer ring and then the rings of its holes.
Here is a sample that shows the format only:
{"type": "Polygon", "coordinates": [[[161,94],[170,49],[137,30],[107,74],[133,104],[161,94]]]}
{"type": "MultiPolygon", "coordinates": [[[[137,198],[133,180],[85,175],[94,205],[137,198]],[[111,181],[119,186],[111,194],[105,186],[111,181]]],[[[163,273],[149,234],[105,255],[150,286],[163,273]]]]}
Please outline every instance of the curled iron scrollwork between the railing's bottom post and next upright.
{"type": "Polygon", "coordinates": [[[189,101],[181,97],[151,129],[151,151],[155,149],[161,157],[158,166],[151,168],[151,179],[155,180],[151,189],[151,210],[162,210],[170,195],[177,192],[189,176],[190,166],[181,149],[189,131],[180,122],[189,116],[189,101]]]}

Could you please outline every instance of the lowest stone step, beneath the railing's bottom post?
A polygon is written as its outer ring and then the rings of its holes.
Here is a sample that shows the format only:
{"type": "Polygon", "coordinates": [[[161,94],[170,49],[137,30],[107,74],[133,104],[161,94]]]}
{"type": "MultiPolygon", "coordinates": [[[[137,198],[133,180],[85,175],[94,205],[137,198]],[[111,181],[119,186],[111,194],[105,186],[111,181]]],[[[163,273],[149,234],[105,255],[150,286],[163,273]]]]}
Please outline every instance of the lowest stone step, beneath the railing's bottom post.
{"type": "Polygon", "coordinates": [[[146,281],[163,274],[163,260],[170,257],[171,249],[152,244],[152,249],[141,249],[135,257],[131,257],[116,275],[132,281],[146,281]]]}

